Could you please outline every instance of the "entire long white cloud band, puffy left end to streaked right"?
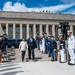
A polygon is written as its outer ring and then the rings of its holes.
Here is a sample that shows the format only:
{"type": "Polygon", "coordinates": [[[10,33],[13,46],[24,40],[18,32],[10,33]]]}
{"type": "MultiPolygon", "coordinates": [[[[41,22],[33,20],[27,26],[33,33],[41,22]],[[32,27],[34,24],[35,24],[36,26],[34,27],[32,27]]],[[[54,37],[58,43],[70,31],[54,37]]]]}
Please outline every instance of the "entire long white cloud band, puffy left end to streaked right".
{"type": "Polygon", "coordinates": [[[25,4],[21,4],[16,2],[14,5],[12,5],[12,2],[6,2],[3,7],[3,11],[18,11],[18,12],[40,12],[40,11],[50,11],[52,13],[61,12],[63,10],[66,10],[72,6],[74,6],[75,3],[71,4],[63,4],[63,5],[56,5],[56,6],[49,6],[49,7],[35,7],[35,8],[28,8],[25,6],[25,4]]]}

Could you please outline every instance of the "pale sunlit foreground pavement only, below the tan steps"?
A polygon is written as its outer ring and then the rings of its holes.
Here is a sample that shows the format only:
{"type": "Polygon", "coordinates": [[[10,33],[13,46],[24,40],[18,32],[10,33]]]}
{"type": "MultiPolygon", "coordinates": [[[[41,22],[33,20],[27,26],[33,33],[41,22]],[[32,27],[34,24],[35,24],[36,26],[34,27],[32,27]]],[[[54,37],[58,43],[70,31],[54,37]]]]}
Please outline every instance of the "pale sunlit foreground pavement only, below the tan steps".
{"type": "Polygon", "coordinates": [[[0,75],[75,75],[75,66],[50,61],[4,63],[0,75]]]}

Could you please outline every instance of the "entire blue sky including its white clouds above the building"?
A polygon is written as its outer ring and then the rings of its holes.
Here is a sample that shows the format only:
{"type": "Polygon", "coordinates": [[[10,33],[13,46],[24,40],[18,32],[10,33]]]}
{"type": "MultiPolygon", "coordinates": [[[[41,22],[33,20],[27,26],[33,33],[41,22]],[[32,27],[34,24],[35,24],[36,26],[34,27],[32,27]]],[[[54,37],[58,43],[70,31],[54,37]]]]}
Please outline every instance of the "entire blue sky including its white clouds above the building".
{"type": "Polygon", "coordinates": [[[0,10],[75,14],[75,0],[0,0],[0,10]]]}

